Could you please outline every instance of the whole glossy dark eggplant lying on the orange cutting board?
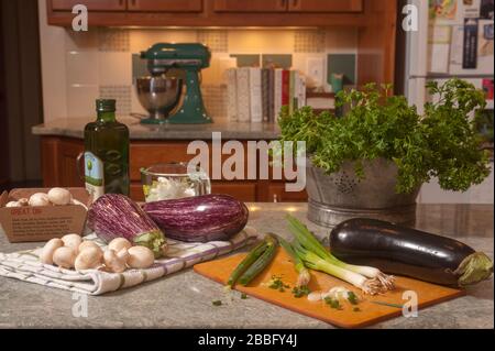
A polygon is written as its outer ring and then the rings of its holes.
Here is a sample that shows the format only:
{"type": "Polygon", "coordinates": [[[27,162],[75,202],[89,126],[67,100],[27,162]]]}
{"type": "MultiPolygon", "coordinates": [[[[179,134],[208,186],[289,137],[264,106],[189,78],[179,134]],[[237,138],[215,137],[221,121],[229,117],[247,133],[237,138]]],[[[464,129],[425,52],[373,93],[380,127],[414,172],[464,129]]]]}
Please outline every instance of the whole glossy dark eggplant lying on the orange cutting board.
{"type": "Polygon", "coordinates": [[[330,251],[346,263],[441,285],[475,284],[493,272],[486,254],[458,240],[375,219],[350,219],[333,228],[330,251]]]}

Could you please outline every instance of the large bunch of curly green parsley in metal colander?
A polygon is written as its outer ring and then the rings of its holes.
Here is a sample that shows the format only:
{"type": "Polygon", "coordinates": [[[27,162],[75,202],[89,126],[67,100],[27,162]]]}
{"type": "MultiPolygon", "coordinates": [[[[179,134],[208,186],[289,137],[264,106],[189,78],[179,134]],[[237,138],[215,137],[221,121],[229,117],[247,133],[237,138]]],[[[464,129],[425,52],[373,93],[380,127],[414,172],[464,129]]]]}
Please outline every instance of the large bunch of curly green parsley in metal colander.
{"type": "Polygon", "coordinates": [[[488,174],[487,153],[470,114],[485,107],[483,92],[461,79],[427,85],[433,101],[420,117],[404,96],[391,96],[392,86],[369,84],[362,90],[340,91],[337,106],[349,111],[342,118],[309,107],[278,118],[280,141],[305,141],[315,166],[338,172],[352,161],[365,177],[363,161],[386,158],[398,168],[397,193],[411,193],[438,177],[449,190],[466,190],[488,174]]]}

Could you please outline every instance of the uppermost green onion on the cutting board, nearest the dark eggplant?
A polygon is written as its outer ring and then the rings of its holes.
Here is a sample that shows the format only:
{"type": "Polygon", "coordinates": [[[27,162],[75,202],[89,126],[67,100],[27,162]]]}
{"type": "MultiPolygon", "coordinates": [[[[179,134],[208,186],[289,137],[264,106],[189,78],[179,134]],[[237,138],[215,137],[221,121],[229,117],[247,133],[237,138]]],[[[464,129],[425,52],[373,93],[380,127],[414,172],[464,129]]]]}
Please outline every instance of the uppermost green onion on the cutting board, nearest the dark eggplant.
{"type": "MultiPolygon", "coordinates": [[[[324,249],[324,246],[318,241],[318,239],[316,239],[315,235],[308,230],[308,228],[299,220],[290,215],[287,215],[287,221],[289,230],[296,237],[299,245],[304,249],[314,252],[320,259],[326,260],[336,266],[376,281],[381,286],[383,286],[383,289],[394,288],[394,276],[386,275],[375,267],[353,265],[340,261],[339,259],[333,256],[327,249],[324,249]]],[[[376,283],[373,284],[375,285],[376,283]]]]}

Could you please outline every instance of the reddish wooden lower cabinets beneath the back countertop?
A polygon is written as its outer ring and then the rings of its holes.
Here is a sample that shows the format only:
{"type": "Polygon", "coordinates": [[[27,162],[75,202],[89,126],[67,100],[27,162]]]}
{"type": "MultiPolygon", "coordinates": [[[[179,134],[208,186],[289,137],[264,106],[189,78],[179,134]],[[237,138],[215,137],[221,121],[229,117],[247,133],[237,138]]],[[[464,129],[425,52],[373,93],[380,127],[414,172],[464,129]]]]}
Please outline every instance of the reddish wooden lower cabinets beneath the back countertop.
{"type": "MultiPolygon", "coordinates": [[[[143,188],[141,186],[141,167],[146,167],[155,163],[189,161],[195,155],[187,154],[188,143],[188,141],[131,141],[131,197],[138,201],[144,200],[143,188]]],[[[42,136],[43,186],[84,186],[84,180],[77,171],[77,156],[82,151],[84,141],[80,139],[42,136]]],[[[222,157],[224,161],[229,155],[222,155],[222,157]]],[[[248,162],[246,158],[244,157],[245,162],[248,162]]],[[[246,164],[244,164],[244,169],[248,172],[246,164]]],[[[243,201],[274,201],[274,195],[276,195],[277,201],[306,200],[306,194],[304,193],[286,193],[284,183],[280,180],[213,179],[211,180],[211,190],[212,193],[231,195],[243,201]]]]}

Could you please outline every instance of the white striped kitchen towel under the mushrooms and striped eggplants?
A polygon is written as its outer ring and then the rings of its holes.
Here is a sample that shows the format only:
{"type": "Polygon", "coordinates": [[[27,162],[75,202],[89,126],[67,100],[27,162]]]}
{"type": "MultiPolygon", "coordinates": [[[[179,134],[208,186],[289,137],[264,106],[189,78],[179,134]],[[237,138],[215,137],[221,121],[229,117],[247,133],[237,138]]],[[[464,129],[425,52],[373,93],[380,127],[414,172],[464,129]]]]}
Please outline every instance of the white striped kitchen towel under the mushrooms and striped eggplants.
{"type": "MultiPolygon", "coordinates": [[[[196,263],[212,260],[251,243],[256,234],[254,228],[246,227],[229,241],[186,243],[167,239],[168,251],[165,259],[156,260],[150,268],[128,270],[123,273],[97,270],[76,272],[43,264],[38,260],[42,248],[7,254],[0,253],[0,276],[66,290],[101,295],[150,282],[196,263]]],[[[105,249],[105,244],[95,234],[85,237],[85,240],[94,240],[105,249]]]]}

